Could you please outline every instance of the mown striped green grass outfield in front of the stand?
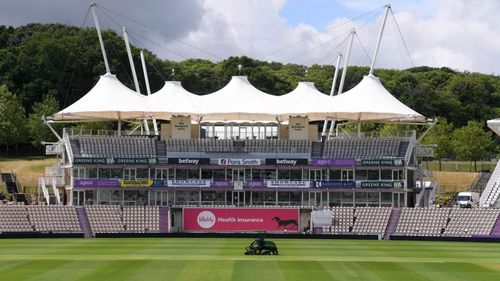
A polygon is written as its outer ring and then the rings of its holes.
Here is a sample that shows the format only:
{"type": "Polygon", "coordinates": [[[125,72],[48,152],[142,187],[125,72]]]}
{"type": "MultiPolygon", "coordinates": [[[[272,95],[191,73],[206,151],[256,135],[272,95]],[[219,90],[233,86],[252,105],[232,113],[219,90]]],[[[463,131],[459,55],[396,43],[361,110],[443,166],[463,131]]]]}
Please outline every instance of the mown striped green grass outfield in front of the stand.
{"type": "Polygon", "coordinates": [[[500,280],[500,243],[274,239],[2,239],[0,280],[500,280]]]}

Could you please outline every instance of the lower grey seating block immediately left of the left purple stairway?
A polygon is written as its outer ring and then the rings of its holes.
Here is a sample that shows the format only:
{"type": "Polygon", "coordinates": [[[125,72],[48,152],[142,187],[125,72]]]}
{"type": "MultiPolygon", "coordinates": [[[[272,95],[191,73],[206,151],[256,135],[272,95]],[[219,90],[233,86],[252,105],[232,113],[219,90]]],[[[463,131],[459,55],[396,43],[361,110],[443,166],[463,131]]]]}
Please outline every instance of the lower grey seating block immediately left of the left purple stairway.
{"type": "Polygon", "coordinates": [[[27,206],[35,231],[82,232],[75,208],[71,206],[27,206]]]}

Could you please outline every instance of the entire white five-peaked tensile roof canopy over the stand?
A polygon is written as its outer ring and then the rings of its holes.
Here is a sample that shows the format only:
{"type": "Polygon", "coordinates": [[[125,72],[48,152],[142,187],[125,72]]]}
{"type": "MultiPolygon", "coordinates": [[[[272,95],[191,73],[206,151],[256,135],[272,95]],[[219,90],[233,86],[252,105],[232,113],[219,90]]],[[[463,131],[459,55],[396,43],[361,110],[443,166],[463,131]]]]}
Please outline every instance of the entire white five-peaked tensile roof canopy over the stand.
{"type": "Polygon", "coordinates": [[[233,76],[222,89],[197,96],[180,82],[169,81],[149,97],[125,87],[112,74],[74,104],[56,113],[54,120],[170,119],[190,115],[202,122],[248,120],[286,122],[290,116],[310,121],[351,120],[374,122],[425,122],[426,118],[393,97],[379,78],[368,75],[351,90],[330,97],[311,82],[301,82],[292,92],[273,96],[250,84],[245,76],[233,76]]]}

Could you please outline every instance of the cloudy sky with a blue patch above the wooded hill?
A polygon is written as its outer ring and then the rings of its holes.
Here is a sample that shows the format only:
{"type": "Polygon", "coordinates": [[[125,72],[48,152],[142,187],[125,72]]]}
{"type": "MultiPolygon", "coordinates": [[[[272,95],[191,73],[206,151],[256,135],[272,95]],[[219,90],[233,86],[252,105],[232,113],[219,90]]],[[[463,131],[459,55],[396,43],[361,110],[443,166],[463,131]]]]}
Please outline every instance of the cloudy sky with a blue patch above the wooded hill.
{"type": "MultiPolygon", "coordinates": [[[[103,28],[124,25],[133,44],[161,58],[333,64],[356,28],[351,65],[369,65],[383,15],[380,0],[101,0],[103,28]]],[[[0,25],[80,26],[90,1],[0,0],[0,25]]],[[[395,0],[377,67],[447,66],[500,73],[499,0],[395,0]],[[396,25],[397,23],[397,25],[396,25]],[[408,47],[400,37],[398,27],[408,47]],[[410,58],[411,57],[411,58],[410,58]]],[[[91,15],[85,25],[93,25],[91,15]]]]}

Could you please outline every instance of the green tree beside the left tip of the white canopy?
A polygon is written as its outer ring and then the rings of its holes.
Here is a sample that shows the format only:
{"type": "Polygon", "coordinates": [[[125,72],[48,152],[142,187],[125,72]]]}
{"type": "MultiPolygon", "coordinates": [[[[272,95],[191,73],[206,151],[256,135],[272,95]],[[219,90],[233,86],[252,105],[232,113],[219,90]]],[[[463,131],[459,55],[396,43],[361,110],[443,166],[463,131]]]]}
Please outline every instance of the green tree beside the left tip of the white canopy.
{"type": "Polygon", "coordinates": [[[27,129],[31,143],[35,147],[40,147],[41,141],[56,141],[52,134],[45,134],[45,125],[42,117],[50,116],[59,111],[59,104],[53,95],[47,95],[41,102],[33,105],[32,113],[28,116],[27,129]]]}

